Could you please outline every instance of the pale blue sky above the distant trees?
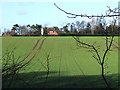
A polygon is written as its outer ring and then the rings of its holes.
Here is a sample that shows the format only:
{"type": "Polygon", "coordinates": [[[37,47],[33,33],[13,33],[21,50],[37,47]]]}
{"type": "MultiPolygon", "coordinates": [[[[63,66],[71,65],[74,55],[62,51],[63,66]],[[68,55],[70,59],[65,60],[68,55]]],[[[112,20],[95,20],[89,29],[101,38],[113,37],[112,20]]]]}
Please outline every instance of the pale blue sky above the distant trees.
{"type": "Polygon", "coordinates": [[[62,9],[76,13],[88,15],[105,14],[108,9],[118,7],[119,0],[84,0],[84,1],[53,1],[53,0],[2,0],[0,1],[0,28],[11,29],[13,24],[27,25],[27,24],[41,24],[44,26],[61,26],[68,22],[75,22],[76,20],[89,20],[87,18],[69,19],[67,15],[54,6],[54,2],[62,9]],[[108,2],[109,1],[109,2],[108,2]]]}

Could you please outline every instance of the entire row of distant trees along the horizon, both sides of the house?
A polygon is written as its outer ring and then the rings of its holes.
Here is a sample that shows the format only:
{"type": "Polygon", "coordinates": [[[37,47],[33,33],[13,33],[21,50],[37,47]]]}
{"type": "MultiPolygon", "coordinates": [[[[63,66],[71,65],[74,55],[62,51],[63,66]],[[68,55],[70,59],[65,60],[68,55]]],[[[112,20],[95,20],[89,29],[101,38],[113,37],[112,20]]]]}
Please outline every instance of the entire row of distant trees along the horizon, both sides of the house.
{"type": "MultiPolygon", "coordinates": [[[[103,19],[92,19],[89,22],[86,21],[76,21],[73,23],[66,23],[63,25],[62,28],[59,28],[57,26],[53,26],[54,30],[61,30],[66,33],[63,33],[63,35],[105,35],[105,32],[107,31],[108,35],[111,35],[114,30],[115,35],[119,35],[120,27],[116,25],[116,19],[113,19],[113,21],[109,22],[109,25],[107,24],[106,20],[103,19]],[[113,29],[114,28],[114,29],[113,29]]],[[[8,30],[7,32],[4,32],[3,35],[6,34],[17,34],[17,35],[41,35],[41,28],[44,30],[44,35],[47,35],[47,26],[42,27],[42,25],[36,24],[36,25],[18,25],[14,24],[11,31],[8,30]]],[[[59,34],[59,35],[62,35],[59,34]]]]}

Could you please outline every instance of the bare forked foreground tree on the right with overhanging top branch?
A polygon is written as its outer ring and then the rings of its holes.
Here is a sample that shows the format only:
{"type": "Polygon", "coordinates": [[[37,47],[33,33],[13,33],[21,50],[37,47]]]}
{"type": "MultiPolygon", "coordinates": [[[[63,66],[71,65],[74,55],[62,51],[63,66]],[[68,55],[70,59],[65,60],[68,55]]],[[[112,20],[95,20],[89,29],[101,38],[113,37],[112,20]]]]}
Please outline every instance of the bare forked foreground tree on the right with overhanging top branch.
{"type": "MultiPolygon", "coordinates": [[[[59,9],[61,10],[62,12],[64,12],[65,14],[67,15],[71,15],[71,16],[67,16],[68,18],[76,18],[76,17],[87,17],[89,19],[92,19],[93,17],[97,17],[97,18],[100,18],[100,19],[104,19],[105,17],[113,17],[114,19],[114,22],[113,22],[113,27],[112,27],[112,32],[110,33],[111,34],[111,38],[110,36],[108,37],[108,31],[105,30],[105,36],[106,36],[106,39],[105,39],[105,43],[106,43],[106,49],[105,51],[103,52],[103,56],[100,55],[99,51],[98,51],[98,48],[94,45],[94,44],[88,44],[88,43],[85,43],[83,41],[81,41],[79,39],[78,36],[73,36],[73,38],[76,40],[77,43],[79,43],[80,45],[82,45],[83,47],[86,47],[87,49],[91,49],[91,52],[94,52],[94,55],[93,55],[93,58],[96,59],[96,61],[98,62],[98,64],[101,66],[101,75],[102,75],[102,78],[106,84],[106,87],[109,88],[110,85],[107,81],[107,79],[105,78],[105,61],[106,61],[106,56],[108,54],[108,52],[111,50],[111,46],[112,46],[112,42],[113,42],[113,39],[114,39],[114,28],[116,26],[116,20],[118,18],[118,16],[120,16],[120,12],[119,12],[119,8],[115,8],[115,9],[111,9],[110,7],[108,7],[108,10],[106,12],[105,15],[101,14],[101,15],[83,15],[83,14],[74,14],[74,13],[69,13],[69,12],[66,12],[65,10],[61,9],[60,7],[58,7],[55,3],[54,5],[59,9]],[[110,41],[109,41],[110,40],[110,41]]],[[[103,23],[104,25],[106,25],[106,23],[103,23]]]]}

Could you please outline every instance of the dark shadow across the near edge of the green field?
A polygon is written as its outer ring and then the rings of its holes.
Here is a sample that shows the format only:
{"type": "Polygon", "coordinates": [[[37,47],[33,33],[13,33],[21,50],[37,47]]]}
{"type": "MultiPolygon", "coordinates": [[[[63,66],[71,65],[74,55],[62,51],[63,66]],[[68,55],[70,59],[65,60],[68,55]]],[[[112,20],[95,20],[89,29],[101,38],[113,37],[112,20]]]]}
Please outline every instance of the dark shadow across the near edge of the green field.
{"type": "MultiPolygon", "coordinates": [[[[19,73],[9,84],[10,79],[3,79],[3,88],[105,88],[105,83],[100,75],[61,76],[59,72],[50,72],[46,80],[47,72],[19,73]],[[45,84],[46,82],[46,84],[45,84]]],[[[118,88],[118,74],[106,76],[110,87],[118,88]]]]}

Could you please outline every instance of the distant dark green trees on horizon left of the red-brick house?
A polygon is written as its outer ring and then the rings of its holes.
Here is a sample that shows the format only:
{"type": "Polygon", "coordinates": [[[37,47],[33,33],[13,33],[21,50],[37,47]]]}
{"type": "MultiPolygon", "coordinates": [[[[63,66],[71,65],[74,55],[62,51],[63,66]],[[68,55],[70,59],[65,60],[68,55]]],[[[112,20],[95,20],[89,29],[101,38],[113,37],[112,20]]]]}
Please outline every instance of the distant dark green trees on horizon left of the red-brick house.
{"type": "MultiPolygon", "coordinates": [[[[19,25],[19,24],[14,24],[12,26],[11,30],[4,30],[2,35],[41,35],[41,29],[43,28],[44,35],[47,35],[47,26],[43,27],[42,25],[39,24],[28,24],[28,25],[19,25]]],[[[53,26],[54,30],[59,30],[57,26],[53,26]]]]}

